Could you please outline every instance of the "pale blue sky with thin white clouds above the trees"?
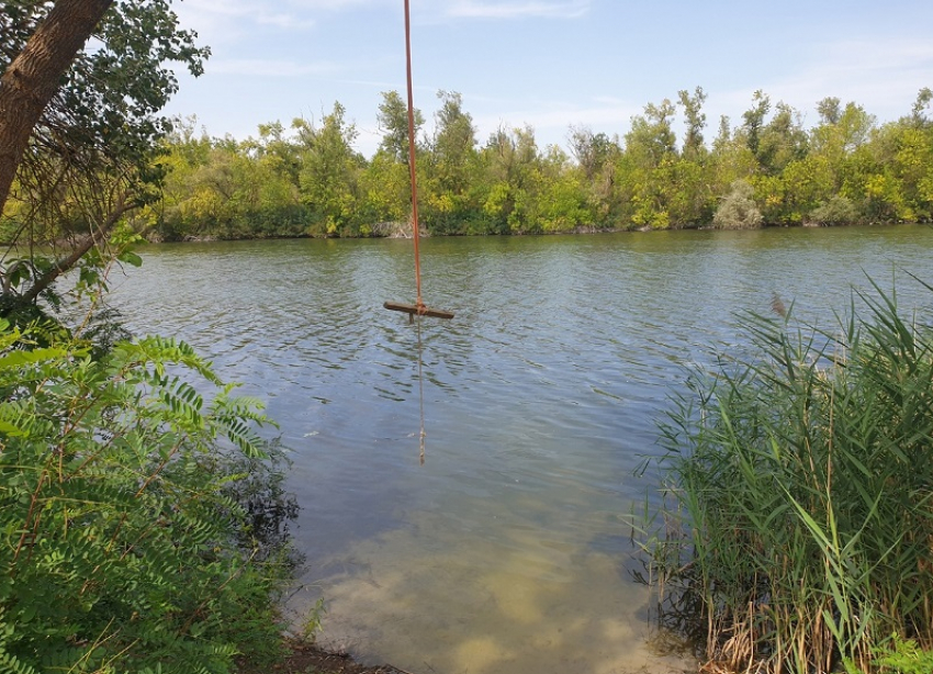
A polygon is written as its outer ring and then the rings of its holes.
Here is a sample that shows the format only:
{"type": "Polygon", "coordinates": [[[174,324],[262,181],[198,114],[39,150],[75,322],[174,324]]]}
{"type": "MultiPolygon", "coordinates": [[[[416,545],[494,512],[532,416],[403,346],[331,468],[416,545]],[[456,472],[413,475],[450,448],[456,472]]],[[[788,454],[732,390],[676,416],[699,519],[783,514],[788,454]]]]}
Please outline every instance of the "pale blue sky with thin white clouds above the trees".
{"type": "MultiPolygon", "coordinates": [[[[335,102],[371,157],[382,92],[405,98],[404,0],[175,0],[211,47],[205,74],[179,71],[169,115],[210,136],[258,135],[335,102]]],[[[430,133],[439,91],[460,93],[484,144],[531,126],[540,148],[571,128],[620,138],[648,103],[707,93],[706,138],[733,126],[755,90],[817,124],[817,102],[854,101],[879,122],[933,88],[930,0],[411,0],[415,106],[430,133]]],[[[677,125],[678,132],[683,131],[677,125]]]]}

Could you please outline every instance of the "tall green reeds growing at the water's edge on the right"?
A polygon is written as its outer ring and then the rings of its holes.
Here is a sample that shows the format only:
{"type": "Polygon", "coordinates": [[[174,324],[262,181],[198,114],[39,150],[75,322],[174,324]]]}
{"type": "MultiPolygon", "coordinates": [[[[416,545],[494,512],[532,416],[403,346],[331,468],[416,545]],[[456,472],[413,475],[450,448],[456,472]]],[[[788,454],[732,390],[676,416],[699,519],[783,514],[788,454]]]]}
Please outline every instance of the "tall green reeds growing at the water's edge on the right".
{"type": "Polygon", "coordinates": [[[897,640],[933,649],[933,329],[875,291],[833,332],[746,316],[754,356],[693,373],[662,424],[678,527],[655,572],[699,603],[720,669],[890,672],[897,640]]]}

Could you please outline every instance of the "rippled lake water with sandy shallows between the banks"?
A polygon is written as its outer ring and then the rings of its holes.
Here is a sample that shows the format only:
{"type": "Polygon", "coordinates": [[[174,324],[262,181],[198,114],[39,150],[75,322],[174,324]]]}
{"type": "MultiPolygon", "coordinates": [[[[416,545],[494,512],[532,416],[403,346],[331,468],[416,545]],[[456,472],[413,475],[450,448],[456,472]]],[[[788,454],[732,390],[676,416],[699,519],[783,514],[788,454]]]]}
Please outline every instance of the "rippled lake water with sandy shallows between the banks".
{"type": "Polygon", "coordinates": [[[832,325],[866,273],[930,295],[922,226],[423,243],[419,464],[412,241],[150,246],[114,277],[127,326],[183,338],[268,403],[293,450],[321,640],[415,674],[673,672],[628,515],[655,420],[775,295],[832,325]]]}

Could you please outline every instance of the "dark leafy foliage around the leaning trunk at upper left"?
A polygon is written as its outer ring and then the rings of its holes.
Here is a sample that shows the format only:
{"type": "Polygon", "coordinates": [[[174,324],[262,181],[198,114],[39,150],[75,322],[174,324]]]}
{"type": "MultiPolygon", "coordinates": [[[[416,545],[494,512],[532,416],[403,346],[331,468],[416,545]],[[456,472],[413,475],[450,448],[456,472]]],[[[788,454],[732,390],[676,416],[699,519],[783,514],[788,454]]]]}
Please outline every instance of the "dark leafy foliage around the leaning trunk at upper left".
{"type": "MultiPolygon", "coordinates": [[[[0,71],[53,4],[4,4],[0,71]]],[[[171,126],[159,111],[178,88],[169,66],[203,70],[209,50],[195,37],[179,27],[168,0],[114,2],[71,61],[0,204],[12,250],[0,269],[3,315],[48,301],[55,280],[76,266],[82,277],[100,267],[89,260],[109,257],[126,214],[158,200],[164,172],[155,158],[171,126]]]]}

